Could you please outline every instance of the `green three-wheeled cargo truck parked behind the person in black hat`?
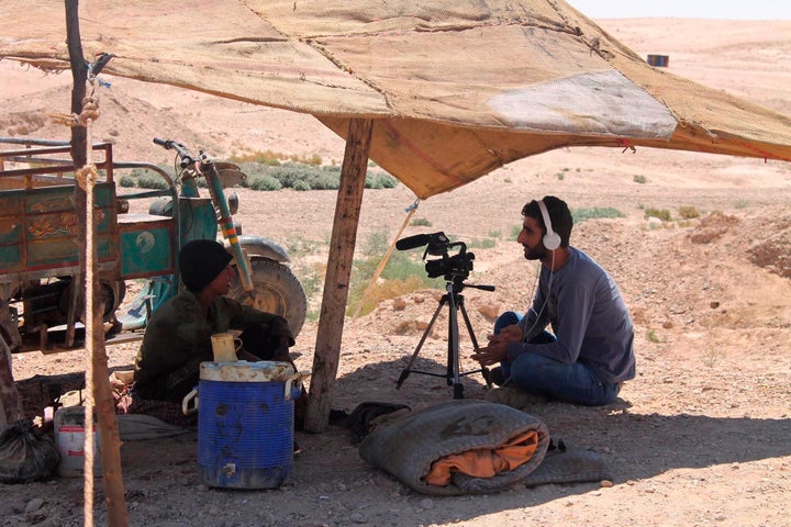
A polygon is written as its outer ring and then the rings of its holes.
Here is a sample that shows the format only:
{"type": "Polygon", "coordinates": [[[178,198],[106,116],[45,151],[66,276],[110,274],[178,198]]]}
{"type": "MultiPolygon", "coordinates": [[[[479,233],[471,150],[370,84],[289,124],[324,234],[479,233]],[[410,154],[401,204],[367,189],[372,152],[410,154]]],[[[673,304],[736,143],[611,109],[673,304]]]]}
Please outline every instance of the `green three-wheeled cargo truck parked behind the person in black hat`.
{"type": "MultiPolygon", "coordinates": [[[[305,318],[302,284],[287,251],[268,238],[242,235],[234,213],[239,167],[192,154],[176,141],[175,176],[147,162],[113,159],[112,145],[92,145],[98,172],[93,223],[107,341],[141,338],[146,323],[179,288],[178,250],[198,238],[221,239],[238,270],[231,296],[283,315],[294,335],[305,318]],[[97,160],[98,159],[98,160],[97,160]],[[161,189],[122,188],[121,175],[157,175],[161,189]],[[202,184],[205,189],[201,195],[202,184]],[[147,213],[130,212],[145,200],[147,213]],[[126,296],[129,285],[134,295],[126,296]]],[[[13,352],[80,347],[85,284],[68,143],[0,137],[0,333],[13,352]]],[[[133,176],[134,175],[134,176],[133,176]]]]}

